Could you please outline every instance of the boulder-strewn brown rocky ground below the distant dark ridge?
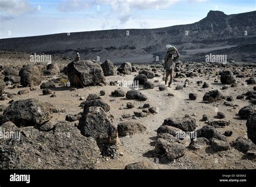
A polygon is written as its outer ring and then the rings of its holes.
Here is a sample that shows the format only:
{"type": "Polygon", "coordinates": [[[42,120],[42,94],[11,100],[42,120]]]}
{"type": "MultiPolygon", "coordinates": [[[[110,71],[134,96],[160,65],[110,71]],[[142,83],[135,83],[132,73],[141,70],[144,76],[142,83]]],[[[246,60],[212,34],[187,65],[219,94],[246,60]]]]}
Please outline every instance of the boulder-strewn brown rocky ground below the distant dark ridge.
{"type": "Polygon", "coordinates": [[[164,87],[159,65],[29,55],[0,52],[0,127],[22,135],[0,140],[2,169],[256,167],[255,66],[179,62],[164,87]],[[138,91],[124,85],[134,78],[138,91]]]}

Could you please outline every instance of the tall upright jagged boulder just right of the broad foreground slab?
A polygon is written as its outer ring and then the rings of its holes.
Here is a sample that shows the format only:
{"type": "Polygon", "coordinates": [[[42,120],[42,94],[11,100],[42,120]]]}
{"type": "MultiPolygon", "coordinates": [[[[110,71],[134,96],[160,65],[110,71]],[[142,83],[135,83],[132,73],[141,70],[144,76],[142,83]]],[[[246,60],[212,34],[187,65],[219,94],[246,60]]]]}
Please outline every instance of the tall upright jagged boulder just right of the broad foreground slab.
{"type": "Polygon", "coordinates": [[[80,117],[78,129],[86,137],[93,137],[97,144],[116,144],[117,128],[101,107],[86,108],[80,117]]]}

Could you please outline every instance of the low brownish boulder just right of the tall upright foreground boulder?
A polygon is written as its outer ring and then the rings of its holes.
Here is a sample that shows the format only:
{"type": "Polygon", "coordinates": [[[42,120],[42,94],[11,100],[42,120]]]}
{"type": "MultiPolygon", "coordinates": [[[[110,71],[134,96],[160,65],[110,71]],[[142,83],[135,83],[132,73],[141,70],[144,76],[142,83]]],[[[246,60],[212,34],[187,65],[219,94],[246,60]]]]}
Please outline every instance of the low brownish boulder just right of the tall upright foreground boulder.
{"type": "Polygon", "coordinates": [[[143,133],[146,129],[143,124],[136,121],[124,121],[117,126],[118,135],[120,136],[143,133]]]}

